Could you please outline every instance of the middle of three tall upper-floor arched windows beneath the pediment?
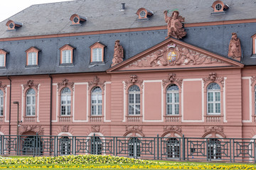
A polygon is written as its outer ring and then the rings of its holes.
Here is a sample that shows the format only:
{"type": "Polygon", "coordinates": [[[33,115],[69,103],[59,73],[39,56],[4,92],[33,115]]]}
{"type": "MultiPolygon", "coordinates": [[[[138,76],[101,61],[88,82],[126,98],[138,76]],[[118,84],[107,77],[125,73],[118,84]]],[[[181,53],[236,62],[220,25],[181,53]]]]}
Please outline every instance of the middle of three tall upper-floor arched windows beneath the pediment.
{"type": "Polygon", "coordinates": [[[178,86],[171,84],[166,89],[166,115],[179,114],[179,94],[178,86]]]}

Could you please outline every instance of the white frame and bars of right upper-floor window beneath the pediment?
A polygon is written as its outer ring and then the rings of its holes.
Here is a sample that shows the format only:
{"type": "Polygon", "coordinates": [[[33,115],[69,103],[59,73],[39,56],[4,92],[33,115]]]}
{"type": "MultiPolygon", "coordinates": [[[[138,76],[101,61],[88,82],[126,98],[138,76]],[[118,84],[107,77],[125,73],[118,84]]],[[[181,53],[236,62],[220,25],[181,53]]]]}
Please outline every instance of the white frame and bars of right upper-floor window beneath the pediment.
{"type": "Polygon", "coordinates": [[[221,93],[220,93],[220,85],[218,85],[219,89],[208,89],[211,84],[217,83],[210,83],[207,86],[207,114],[208,115],[220,115],[221,114],[221,93]],[[213,101],[209,101],[209,94],[213,94],[213,101]],[[220,100],[216,101],[216,94],[220,96],[220,100]],[[213,113],[209,112],[209,104],[213,104],[213,113]],[[220,112],[216,112],[216,104],[220,104],[220,112]]]}

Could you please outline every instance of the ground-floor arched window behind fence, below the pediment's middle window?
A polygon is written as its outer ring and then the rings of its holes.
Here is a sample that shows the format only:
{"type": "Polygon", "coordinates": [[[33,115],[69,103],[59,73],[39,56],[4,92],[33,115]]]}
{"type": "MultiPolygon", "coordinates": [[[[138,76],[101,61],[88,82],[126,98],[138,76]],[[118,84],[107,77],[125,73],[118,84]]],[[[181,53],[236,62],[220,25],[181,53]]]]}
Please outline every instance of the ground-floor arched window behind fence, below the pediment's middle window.
{"type": "Polygon", "coordinates": [[[180,157],[180,142],[174,137],[166,141],[166,156],[167,158],[178,159],[180,157]]]}

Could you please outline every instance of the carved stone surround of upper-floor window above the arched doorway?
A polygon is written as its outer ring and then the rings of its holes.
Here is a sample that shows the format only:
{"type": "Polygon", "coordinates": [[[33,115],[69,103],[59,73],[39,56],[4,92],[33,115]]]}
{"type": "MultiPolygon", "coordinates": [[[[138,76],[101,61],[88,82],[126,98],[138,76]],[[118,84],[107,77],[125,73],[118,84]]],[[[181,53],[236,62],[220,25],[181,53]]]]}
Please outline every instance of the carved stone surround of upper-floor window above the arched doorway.
{"type": "Polygon", "coordinates": [[[28,80],[26,84],[23,84],[23,89],[22,89],[22,93],[23,93],[23,98],[22,98],[22,118],[21,120],[24,120],[24,122],[26,123],[35,123],[35,122],[39,122],[39,86],[40,84],[34,84],[33,80],[28,80]],[[26,103],[27,103],[27,91],[29,89],[33,89],[36,94],[36,101],[35,101],[35,115],[26,115],[26,103]],[[25,114],[23,114],[23,111],[25,111],[25,114]]]}

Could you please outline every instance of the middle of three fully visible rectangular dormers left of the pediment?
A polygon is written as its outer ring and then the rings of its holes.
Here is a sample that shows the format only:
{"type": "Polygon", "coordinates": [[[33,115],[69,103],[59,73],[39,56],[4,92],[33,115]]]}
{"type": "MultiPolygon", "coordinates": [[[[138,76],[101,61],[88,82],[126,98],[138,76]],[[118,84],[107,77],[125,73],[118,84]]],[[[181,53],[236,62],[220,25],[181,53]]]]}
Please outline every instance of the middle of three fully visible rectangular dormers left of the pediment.
{"type": "Polygon", "coordinates": [[[60,64],[73,64],[73,54],[75,47],[64,45],[60,47],[60,64]]]}

